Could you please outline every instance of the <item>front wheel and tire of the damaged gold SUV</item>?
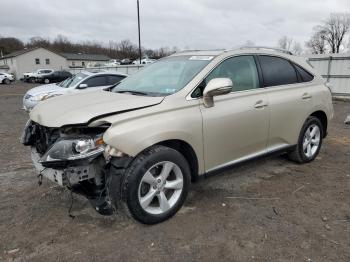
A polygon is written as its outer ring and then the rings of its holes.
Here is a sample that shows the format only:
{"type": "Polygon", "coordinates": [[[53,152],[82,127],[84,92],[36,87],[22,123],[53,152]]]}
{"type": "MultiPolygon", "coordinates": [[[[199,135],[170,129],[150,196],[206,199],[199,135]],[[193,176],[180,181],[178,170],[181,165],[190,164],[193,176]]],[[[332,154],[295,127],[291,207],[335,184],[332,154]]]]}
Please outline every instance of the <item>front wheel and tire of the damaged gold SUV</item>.
{"type": "Polygon", "coordinates": [[[165,146],[153,146],[126,169],[121,202],[137,221],[160,223],[181,208],[190,181],[190,168],[182,154],[165,146]]]}

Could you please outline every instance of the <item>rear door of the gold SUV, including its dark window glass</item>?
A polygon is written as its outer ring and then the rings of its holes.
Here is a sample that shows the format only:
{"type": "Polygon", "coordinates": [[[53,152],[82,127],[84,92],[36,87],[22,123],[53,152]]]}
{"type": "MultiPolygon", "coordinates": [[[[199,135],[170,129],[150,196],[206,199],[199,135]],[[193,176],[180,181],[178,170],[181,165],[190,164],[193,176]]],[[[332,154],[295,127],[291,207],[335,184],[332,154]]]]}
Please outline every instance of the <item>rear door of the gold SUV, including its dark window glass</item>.
{"type": "Polygon", "coordinates": [[[312,91],[305,82],[313,76],[282,57],[258,58],[269,100],[268,149],[274,151],[297,143],[301,126],[312,108],[312,91]]]}

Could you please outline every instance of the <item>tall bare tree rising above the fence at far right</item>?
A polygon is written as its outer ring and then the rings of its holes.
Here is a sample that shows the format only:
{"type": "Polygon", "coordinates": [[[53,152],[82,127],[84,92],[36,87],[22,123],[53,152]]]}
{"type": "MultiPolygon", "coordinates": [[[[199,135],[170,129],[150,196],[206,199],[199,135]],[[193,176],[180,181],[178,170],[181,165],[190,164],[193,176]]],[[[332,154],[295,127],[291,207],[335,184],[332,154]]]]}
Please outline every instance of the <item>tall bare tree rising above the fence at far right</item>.
{"type": "Polygon", "coordinates": [[[350,14],[334,13],[318,27],[318,31],[324,35],[332,53],[339,53],[345,35],[350,31],[350,14]]]}

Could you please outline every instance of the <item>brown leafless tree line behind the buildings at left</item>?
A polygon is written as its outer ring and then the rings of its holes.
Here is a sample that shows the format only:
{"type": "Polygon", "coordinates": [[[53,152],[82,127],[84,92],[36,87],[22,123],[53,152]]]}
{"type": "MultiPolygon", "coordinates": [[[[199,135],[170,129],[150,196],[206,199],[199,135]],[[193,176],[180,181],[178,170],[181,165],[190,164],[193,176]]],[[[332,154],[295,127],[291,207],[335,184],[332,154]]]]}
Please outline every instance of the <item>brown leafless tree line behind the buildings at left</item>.
{"type": "MultiPolygon", "coordinates": [[[[23,50],[24,48],[44,47],[58,53],[87,53],[87,54],[101,54],[113,59],[137,59],[139,57],[138,46],[130,40],[122,40],[120,42],[109,41],[108,44],[101,44],[96,41],[84,41],[74,43],[63,35],[50,41],[49,39],[36,36],[29,39],[28,42],[23,42],[15,37],[0,36],[0,56],[7,55],[15,51],[23,50]]],[[[161,58],[168,56],[178,49],[176,47],[161,47],[159,49],[141,48],[142,55],[149,58],[161,58]]]]}

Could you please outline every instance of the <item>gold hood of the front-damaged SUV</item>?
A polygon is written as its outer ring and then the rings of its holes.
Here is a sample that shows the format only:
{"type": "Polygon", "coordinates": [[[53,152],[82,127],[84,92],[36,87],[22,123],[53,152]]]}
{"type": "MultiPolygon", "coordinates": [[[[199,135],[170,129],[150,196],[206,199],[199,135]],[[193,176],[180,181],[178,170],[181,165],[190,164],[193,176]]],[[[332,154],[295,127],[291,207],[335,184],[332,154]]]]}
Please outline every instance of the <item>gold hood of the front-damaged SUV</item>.
{"type": "Polygon", "coordinates": [[[86,124],[97,117],[157,105],[163,99],[102,90],[82,92],[44,100],[34,107],[29,116],[47,127],[86,124]]]}

